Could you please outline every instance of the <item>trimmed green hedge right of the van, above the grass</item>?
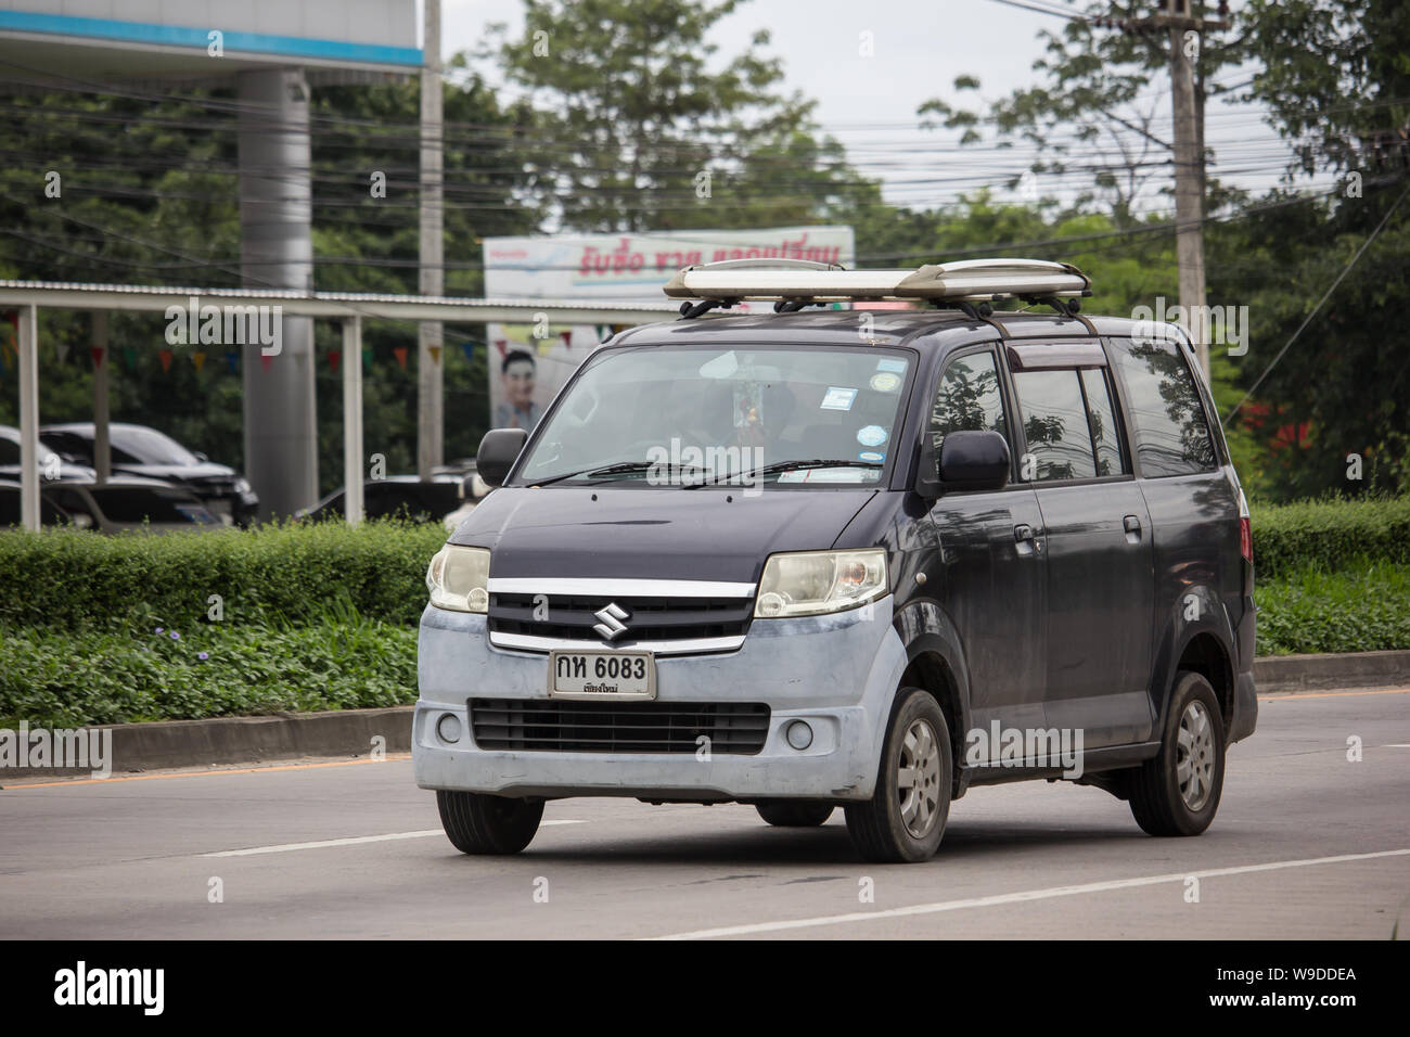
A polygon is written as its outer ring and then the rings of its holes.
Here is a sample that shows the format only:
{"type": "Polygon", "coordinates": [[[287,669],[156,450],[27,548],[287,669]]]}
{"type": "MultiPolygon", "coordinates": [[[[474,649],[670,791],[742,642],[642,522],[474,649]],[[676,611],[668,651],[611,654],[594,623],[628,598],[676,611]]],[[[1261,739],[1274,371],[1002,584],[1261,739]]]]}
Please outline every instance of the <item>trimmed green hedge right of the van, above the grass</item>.
{"type": "Polygon", "coordinates": [[[1258,580],[1359,559],[1410,563],[1410,497],[1252,507],[1258,580]]]}

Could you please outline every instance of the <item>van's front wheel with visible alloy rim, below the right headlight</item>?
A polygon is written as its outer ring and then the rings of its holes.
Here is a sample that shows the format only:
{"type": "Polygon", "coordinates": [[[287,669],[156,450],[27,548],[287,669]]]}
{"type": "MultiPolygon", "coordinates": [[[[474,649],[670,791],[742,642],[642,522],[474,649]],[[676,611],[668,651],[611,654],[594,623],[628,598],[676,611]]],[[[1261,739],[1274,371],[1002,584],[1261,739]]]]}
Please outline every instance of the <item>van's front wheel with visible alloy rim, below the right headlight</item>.
{"type": "Polygon", "coordinates": [[[881,863],[935,856],[950,813],[952,783],[950,728],[939,703],[924,689],[901,689],[881,744],[876,794],[845,808],[857,852],[881,863]],[[911,766],[916,755],[919,768],[911,766]]]}

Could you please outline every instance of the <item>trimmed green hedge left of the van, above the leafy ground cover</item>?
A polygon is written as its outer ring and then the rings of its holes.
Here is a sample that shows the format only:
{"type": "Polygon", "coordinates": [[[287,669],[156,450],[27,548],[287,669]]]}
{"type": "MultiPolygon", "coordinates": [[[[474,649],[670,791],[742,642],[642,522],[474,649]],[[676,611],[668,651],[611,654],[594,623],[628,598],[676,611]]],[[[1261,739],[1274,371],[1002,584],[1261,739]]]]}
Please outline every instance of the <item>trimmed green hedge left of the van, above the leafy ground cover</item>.
{"type": "Polygon", "coordinates": [[[219,594],[224,624],[321,622],[351,608],[412,626],[439,525],[340,522],[173,536],[0,532],[0,626],[189,629],[219,594]],[[147,624],[151,619],[151,624],[147,624]]]}

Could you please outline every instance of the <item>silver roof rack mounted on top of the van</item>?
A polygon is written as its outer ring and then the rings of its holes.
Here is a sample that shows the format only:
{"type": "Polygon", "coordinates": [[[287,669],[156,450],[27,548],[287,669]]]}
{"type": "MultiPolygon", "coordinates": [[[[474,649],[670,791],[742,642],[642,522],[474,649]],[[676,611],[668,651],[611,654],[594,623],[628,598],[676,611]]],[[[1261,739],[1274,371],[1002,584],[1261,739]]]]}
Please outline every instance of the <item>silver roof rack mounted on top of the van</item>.
{"type": "Polygon", "coordinates": [[[1049,260],[959,260],[918,269],[846,269],[811,260],[725,260],[685,267],[666,285],[685,317],[744,299],[774,299],[777,312],[835,301],[928,299],[983,313],[979,302],[1046,302],[1060,313],[1077,312],[1076,299],[1091,295],[1091,278],[1070,262],[1049,260]],[[1072,301],[1072,302],[1065,302],[1072,301]]]}

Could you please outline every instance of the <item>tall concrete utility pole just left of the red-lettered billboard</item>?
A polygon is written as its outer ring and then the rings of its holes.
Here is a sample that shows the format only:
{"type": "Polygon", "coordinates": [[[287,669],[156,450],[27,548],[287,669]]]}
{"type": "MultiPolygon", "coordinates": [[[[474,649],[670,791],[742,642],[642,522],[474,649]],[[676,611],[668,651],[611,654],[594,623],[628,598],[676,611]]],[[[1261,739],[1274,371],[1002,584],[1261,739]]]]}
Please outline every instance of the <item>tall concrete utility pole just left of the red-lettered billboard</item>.
{"type": "MultiPolygon", "coordinates": [[[[444,104],[441,95],[440,0],[424,0],[422,40],[420,291],[446,293],[444,104]]],[[[422,483],[444,456],[444,327],[423,320],[416,353],[416,473],[422,483]]]]}

